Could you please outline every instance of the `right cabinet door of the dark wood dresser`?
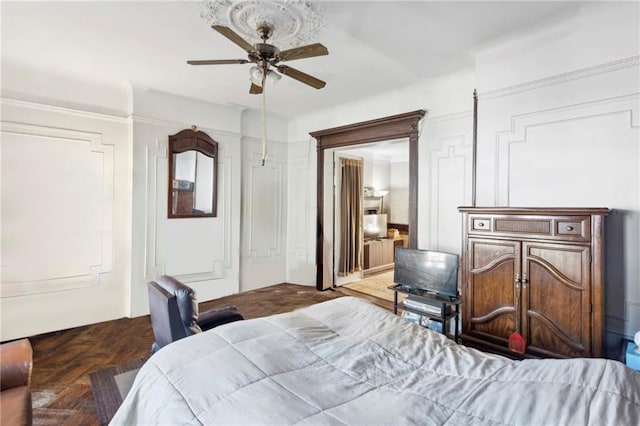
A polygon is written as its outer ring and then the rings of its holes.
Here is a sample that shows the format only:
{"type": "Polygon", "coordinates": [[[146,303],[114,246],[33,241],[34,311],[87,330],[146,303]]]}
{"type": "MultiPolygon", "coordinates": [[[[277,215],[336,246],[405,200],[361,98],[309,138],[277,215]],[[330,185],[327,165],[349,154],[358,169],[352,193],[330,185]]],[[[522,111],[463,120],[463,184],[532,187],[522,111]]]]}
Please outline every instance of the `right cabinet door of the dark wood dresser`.
{"type": "Polygon", "coordinates": [[[522,333],[527,352],[592,356],[589,247],[522,244],[522,333]]]}

